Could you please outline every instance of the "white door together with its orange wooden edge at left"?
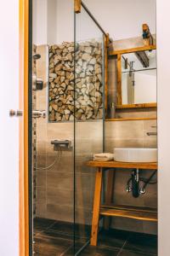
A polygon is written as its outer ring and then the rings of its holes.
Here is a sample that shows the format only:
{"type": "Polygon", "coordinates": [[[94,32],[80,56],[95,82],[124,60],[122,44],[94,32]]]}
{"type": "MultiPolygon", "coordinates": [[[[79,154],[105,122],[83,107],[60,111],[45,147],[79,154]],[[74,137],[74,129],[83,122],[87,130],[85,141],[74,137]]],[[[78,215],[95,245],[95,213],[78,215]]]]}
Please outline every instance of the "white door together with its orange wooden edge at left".
{"type": "Polygon", "coordinates": [[[1,38],[1,255],[28,255],[28,6],[27,1],[6,1],[0,10],[1,38]],[[10,4],[10,8],[9,8],[10,4]],[[27,12],[26,12],[27,10],[27,12]],[[8,14],[8,15],[7,15],[8,14]],[[25,18],[25,20],[24,20],[25,18]],[[25,48],[24,48],[25,44],[25,48]],[[25,62],[24,62],[25,61],[25,62]],[[25,63],[25,64],[24,64],[25,63]],[[24,70],[25,69],[25,70],[24,70]],[[25,74],[25,77],[24,77],[25,74]],[[25,80],[24,80],[25,79],[25,80]],[[24,90],[25,101],[24,101],[24,90]],[[24,102],[26,105],[24,106],[24,102]],[[10,109],[13,111],[10,112],[10,109]],[[23,116],[17,110],[21,110],[23,116]],[[10,114],[13,116],[10,116],[10,114]],[[25,132],[24,132],[25,130],[25,132]],[[25,148],[25,150],[24,150],[25,148]],[[24,166],[26,167],[24,169],[24,166]],[[25,207],[24,207],[25,206],[25,207]],[[25,211],[27,214],[25,214],[25,211]],[[25,242],[26,241],[26,242],[25,242]],[[26,254],[27,251],[27,254],[26,254]]]}

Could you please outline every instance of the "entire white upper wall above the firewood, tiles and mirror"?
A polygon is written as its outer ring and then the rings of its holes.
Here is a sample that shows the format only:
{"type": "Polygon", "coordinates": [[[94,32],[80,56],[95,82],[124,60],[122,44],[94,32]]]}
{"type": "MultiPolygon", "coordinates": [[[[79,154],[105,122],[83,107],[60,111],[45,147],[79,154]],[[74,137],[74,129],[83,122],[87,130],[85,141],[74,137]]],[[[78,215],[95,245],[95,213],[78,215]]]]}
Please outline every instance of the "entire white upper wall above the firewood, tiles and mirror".
{"type": "MultiPolygon", "coordinates": [[[[156,32],[156,0],[84,0],[105,32],[111,38],[133,38],[142,35],[142,24],[156,32]],[[105,19],[107,17],[107,19],[105,19]]],[[[74,40],[73,0],[33,0],[35,44],[61,44],[74,40]]],[[[99,37],[97,26],[85,13],[77,15],[77,41],[99,37]]]]}

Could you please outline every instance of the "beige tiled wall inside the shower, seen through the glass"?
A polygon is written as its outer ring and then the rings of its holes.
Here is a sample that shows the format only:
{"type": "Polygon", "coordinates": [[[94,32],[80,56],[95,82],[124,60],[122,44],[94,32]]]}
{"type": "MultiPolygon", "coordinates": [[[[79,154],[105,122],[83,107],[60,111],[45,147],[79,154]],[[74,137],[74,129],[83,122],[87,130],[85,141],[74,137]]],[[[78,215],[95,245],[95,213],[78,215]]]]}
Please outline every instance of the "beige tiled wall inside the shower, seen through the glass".
{"type": "MultiPolygon", "coordinates": [[[[41,59],[37,61],[37,78],[43,79],[43,90],[37,90],[37,109],[48,109],[48,47],[37,46],[41,59]]],[[[37,168],[51,165],[57,152],[51,145],[54,139],[70,139],[74,143],[74,123],[48,123],[48,117],[37,119],[37,168]]],[[[85,163],[94,152],[103,148],[101,120],[78,122],[76,125],[76,221],[91,223],[94,195],[94,170],[85,163]],[[88,133],[87,133],[88,132],[88,133]]],[[[63,151],[55,165],[47,170],[37,170],[36,215],[73,222],[73,148],[63,151]]]]}

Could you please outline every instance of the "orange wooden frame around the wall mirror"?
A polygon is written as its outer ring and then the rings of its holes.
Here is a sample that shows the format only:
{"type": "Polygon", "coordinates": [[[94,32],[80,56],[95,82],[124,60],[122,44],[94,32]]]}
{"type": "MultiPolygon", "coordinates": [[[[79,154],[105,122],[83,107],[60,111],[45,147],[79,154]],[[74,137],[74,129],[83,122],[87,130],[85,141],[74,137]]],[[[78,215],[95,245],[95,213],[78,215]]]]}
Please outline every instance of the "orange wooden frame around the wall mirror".
{"type": "Polygon", "coordinates": [[[150,49],[156,49],[156,45],[141,46],[130,49],[120,49],[110,52],[110,56],[116,56],[117,59],[117,105],[116,108],[156,108],[157,103],[139,103],[139,104],[122,104],[122,55],[145,51],[150,49]]]}

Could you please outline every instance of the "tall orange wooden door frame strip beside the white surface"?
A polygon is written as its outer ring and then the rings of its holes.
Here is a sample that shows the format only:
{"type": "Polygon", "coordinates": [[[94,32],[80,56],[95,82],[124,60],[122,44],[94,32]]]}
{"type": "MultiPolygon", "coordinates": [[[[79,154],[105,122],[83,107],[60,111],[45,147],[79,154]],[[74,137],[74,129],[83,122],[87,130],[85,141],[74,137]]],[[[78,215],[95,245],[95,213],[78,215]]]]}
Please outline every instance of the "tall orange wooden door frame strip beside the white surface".
{"type": "Polygon", "coordinates": [[[19,251],[20,256],[31,255],[29,250],[29,9],[30,0],[19,0],[20,46],[20,164],[19,164],[19,251]]]}

